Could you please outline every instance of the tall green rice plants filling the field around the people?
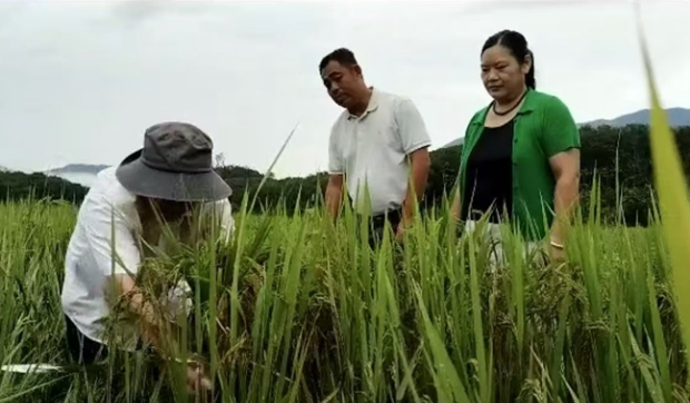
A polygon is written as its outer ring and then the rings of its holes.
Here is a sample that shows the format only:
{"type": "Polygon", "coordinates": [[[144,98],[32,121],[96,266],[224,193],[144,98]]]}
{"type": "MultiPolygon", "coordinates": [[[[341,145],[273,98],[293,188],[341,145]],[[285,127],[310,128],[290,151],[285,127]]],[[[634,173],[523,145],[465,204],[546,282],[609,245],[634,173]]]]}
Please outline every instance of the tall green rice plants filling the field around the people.
{"type": "MultiPolygon", "coordinates": [[[[76,212],[0,206],[3,365],[67,362],[60,288],[76,212]]],[[[404,248],[373,252],[347,210],[336,224],[319,208],[240,210],[229,244],[179,247],[142,271],[194,288],[176,338],[207,362],[213,392],[188,395],[175,365],[121,354],[2,372],[0,402],[690,401],[661,226],[580,216],[568,263],[532,263],[510,236],[509,263],[490,269],[490,245],[457,237],[444,212],[421,217],[404,248]]]]}

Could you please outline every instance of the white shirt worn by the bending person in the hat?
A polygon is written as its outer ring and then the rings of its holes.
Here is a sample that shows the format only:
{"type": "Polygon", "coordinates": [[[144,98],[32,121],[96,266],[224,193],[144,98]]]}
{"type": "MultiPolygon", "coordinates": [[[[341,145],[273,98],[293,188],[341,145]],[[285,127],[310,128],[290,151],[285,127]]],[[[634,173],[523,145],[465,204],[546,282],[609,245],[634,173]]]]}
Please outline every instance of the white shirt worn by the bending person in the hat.
{"type": "MultiPolygon", "coordinates": [[[[103,321],[111,301],[108,279],[112,274],[136,275],[141,263],[137,235],[141,223],[135,207],[136,196],[120,185],[115,170],[112,167],[98,174],[79,209],[65,258],[61,295],[62,309],[77,328],[88,338],[103,344],[103,321]]],[[[227,239],[234,228],[229,202],[207,204],[207,213],[211,210],[208,207],[214,207],[213,212],[220,219],[220,236],[227,239]]],[[[171,306],[179,307],[180,302],[189,304],[189,291],[186,282],[178,283],[168,295],[171,306]]],[[[117,336],[124,338],[120,340],[124,343],[131,343],[125,348],[134,347],[136,332],[124,330],[117,336]]]]}

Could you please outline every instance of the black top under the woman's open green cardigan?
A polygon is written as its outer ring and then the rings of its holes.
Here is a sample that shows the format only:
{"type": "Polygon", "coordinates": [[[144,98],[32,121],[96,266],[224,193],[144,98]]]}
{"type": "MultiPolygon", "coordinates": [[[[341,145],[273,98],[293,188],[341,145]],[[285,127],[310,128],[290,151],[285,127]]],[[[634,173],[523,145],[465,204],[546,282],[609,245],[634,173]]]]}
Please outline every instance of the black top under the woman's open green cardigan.
{"type": "Polygon", "coordinates": [[[489,220],[511,217],[513,206],[513,120],[485,127],[467,158],[462,219],[479,219],[492,209],[489,220]],[[470,204],[472,206],[470,206],[470,204]],[[472,214],[469,209],[472,207],[472,214]],[[504,209],[506,212],[504,212],[504,209]]]}

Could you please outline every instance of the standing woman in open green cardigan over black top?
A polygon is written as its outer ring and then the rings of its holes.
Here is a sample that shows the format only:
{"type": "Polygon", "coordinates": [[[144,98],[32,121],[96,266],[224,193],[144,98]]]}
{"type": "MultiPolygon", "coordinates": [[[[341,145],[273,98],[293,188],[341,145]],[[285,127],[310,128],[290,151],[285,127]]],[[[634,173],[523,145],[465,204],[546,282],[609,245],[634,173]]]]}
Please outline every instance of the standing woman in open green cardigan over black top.
{"type": "Polygon", "coordinates": [[[496,236],[507,218],[533,247],[544,242],[560,259],[580,193],[578,125],[558,97],[536,91],[534,55],[520,32],[489,38],[481,66],[493,101],[467,126],[453,216],[471,230],[486,215],[496,236]]]}

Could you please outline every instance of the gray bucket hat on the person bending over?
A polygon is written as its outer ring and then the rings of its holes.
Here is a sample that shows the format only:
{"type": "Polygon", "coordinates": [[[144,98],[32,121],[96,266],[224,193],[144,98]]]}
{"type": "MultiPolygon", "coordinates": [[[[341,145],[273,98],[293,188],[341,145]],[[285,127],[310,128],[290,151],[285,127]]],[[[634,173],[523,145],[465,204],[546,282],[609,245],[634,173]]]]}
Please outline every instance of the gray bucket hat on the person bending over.
{"type": "Polygon", "coordinates": [[[184,122],[162,122],[144,134],[144,148],[117,168],[120,184],[137,196],[174,202],[215,202],[230,187],[213,169],[214,144],[184,122]]]}

